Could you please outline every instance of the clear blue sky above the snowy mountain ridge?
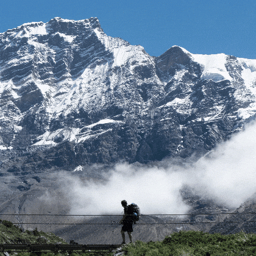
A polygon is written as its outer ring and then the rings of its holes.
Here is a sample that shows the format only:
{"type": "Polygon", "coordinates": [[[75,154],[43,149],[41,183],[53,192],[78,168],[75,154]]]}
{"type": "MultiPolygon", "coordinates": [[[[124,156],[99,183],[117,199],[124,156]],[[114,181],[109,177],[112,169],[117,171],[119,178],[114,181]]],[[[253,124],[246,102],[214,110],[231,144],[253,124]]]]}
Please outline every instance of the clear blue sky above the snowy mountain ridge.
{"type": "Polygon", "coordinates": [[[107,35],[140,44],[150,55],[173,45],[194,54],[256,59],[255,0],[9,0],[0,8],[0,33],[54,17],[98,17],[107,35]]]}

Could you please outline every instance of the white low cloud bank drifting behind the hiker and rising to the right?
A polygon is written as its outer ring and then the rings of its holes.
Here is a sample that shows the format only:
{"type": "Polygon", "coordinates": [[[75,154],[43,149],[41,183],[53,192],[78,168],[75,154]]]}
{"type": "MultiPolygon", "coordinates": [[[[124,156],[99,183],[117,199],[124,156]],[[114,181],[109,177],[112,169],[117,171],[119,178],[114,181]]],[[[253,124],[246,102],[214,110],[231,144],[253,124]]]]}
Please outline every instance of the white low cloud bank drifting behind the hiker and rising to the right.
{"type": "Polygon", "coordinates": [[[70,213],[77,215],[121,214],[123,199],[138,204],[144,214],[186,213],[190,207],[180,196],[184,186],[235,208],[256,192],[255,157],[256,125],[250,124],[196,163],[119,163],[101,182],[70,174],[62,174],[61,182],[70,213]]]}

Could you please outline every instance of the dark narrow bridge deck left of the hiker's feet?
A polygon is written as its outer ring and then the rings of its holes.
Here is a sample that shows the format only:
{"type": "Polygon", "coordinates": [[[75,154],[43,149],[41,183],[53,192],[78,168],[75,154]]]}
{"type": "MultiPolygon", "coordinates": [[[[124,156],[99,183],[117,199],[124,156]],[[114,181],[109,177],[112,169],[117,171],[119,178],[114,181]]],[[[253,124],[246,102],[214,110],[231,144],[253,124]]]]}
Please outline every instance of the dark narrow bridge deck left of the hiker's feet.
{"type": "Polygon", "coordinates": [[[0,244],[0,252],[113,251],[121,244],[0,244]]]}

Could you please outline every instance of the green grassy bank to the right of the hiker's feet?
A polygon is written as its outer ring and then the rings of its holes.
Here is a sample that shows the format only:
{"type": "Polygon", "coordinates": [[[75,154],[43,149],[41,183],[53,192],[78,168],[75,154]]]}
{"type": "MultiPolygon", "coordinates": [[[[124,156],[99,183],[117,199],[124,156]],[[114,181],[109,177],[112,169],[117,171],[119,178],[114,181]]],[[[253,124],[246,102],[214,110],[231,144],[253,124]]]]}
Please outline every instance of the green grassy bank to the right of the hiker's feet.
{"type": "Polygon", "coordinates": [[[136,241],[127,244],[123,250],[129,256],[253,256],[256,255],[256,234],[240,232],[221,235],[180,231],[166,236],[163,241],[136,241]]]}

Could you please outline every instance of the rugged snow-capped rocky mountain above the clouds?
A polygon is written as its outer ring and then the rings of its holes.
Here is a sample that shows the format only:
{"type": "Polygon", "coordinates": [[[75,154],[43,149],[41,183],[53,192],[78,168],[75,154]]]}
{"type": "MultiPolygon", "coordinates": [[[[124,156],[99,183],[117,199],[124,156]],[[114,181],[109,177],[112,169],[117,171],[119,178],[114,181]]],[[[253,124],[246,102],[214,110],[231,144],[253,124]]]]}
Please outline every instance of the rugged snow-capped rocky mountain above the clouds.
{"type": "Polygon", "coordinates": [[[97,18],[23,24],[0,34],[0,149],[32,151],[20,170],[205,154],[254,118],[255,85],[256,60],[152,57],[97,18]]]}

